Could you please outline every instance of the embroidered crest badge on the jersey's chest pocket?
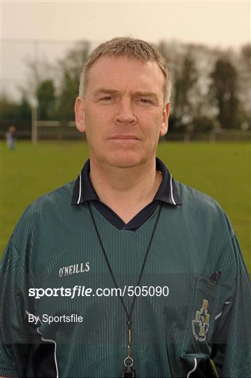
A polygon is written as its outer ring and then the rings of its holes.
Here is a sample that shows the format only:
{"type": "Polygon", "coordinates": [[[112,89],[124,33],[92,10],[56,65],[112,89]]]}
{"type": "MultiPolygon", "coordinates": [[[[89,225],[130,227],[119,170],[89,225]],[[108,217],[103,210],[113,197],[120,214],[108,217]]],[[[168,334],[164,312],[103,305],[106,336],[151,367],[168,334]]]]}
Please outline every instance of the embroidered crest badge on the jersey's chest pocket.
{"type": "Polygon", "coordinates": [[[210,314],[208,314],[208,300],[203,300],[200,311],[196,311],[195,319],[192,320],[192,333],[196,341],[203,342],[206,340],[209,325],[210,314]]]}

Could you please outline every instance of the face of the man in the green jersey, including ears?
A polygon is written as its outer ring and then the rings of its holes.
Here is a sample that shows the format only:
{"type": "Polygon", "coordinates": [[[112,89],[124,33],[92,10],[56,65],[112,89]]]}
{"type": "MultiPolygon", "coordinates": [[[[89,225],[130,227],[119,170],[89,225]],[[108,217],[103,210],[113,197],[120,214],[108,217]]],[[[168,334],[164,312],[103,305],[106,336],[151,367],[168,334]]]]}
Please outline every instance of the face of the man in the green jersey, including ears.
{"type": "Polygon", "coordinates": [[[155,157],[168,128],[164,74],[156,62],[101,57],[89,69],[85,99],[76,99],[76,125],[86,132],[91,161],[134,167],[155,157]]]}

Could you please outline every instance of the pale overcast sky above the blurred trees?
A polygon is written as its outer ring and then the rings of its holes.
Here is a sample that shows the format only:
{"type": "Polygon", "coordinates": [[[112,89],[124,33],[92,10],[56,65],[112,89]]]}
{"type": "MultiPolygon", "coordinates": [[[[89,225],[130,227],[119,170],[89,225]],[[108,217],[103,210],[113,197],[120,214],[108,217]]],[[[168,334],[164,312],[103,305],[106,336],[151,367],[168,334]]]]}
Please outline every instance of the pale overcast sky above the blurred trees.
{"type": "Polygon", "coordinates": [[[34,43],[27,40],[40,41],[39,54],[50,59],[69,48],[63,41],[87,39],[96,45],[124,35],[238,48],[250,42],[250,2],[1,0],[2,86],[13,88],[24,80],[24,61],[34,55],[34,43]]]}

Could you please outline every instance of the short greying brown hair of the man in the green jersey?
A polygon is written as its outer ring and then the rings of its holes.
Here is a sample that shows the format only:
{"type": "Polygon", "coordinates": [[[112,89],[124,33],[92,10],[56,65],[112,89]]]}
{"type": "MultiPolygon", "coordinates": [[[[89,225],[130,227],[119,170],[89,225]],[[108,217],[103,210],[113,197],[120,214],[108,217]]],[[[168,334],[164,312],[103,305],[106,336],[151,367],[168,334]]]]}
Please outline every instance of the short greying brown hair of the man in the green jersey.
{"type": "Polygon", "coordinates": [[[79,95],[80,97],[85,97],[85,89],[87,87],[88,72],[91,69],[94,62],[96,62],[99,57],[111,56],[111,57],[128,57],[139,59],[141,62],[156,62],[159,68],[164,74],[164,87],[163,87],[163,98],[164,104],[170,100],[171,97],[171,77],[168,71],[168,66],[166,60],[159,53],[157,48],[148,42],[142,41],[141,39],[129,38],[129,37],[117,37],[110,41],[101,43],[96,47],[91,55],[87,57],[85,64],[83,66],[80,75],[80,86],[79,95]]]}

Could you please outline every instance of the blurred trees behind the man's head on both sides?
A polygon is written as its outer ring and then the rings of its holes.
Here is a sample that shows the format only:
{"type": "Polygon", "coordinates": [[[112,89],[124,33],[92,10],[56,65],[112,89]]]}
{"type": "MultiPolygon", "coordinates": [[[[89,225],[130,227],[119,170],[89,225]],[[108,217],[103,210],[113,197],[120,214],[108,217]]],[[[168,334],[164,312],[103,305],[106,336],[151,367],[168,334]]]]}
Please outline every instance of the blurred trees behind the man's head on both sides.
{"type": "MultiPolygon", "coordinates": [[[[171,71],[169,132],[251,129],[251,45],[238,50],[162,41],[156,45],[171,71]]],[[[76,43],[53,66],[29,62],[29,80],[20,102],[3,93],[2,120],[31,120],[36,99],[38,120],[74,119],[80,71],[90,43],[76,43]]]]}

